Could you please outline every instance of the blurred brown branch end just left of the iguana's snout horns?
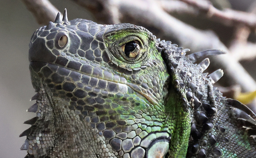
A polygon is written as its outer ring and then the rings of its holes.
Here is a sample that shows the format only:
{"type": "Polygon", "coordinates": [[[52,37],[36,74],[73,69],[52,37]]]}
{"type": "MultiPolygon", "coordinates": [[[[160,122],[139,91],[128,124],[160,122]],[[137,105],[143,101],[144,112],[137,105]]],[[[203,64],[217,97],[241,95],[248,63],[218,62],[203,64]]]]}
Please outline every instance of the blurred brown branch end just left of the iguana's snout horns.
{"type": "Polygon", "coordinates": [[[55,8],[48,0],[22,0],[27,9],[32,12],[38,24],[47,25],[49,21],[54,21],[58,9],[55,8]]]}

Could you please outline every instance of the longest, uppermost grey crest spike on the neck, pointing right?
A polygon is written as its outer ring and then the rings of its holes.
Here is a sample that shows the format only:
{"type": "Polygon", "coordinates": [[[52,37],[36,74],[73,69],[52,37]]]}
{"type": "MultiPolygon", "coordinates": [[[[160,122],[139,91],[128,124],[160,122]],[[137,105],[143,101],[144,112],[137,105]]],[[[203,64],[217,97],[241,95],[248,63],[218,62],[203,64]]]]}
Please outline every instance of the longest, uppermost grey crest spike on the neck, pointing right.
{"type": "Polygon", "coordinates": [[[212,50],[192,53],[189,55],[189,58],[192,62],[197,62],[197,61],[202,61],[204,58],[207,58],[208,56],[222,55],[222,54],[226,54],[226,52],[222,50],[212,49],[212,50]]]}

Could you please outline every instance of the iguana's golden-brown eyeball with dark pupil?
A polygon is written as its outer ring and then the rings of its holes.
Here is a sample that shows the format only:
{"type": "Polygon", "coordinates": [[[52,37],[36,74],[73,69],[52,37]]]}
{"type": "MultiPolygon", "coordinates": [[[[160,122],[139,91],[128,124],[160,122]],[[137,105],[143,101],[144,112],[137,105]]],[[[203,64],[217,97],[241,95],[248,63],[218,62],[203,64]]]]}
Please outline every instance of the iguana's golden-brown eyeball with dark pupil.
{"type": "Polygon", "coordinates": [[[137,40],[133,40],[131,42],[125,43],[122,46],[122,50],[128,58],[136,58],[140,52],[139,42],[137,40]]]}

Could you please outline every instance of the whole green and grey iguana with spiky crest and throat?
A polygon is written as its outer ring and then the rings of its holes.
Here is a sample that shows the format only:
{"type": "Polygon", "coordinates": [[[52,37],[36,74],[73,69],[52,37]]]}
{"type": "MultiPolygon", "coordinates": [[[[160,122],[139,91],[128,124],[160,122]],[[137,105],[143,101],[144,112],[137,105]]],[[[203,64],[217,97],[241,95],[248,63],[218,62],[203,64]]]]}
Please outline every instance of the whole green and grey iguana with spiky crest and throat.
{"type": "Polygon", "coordinates": [[[58,13],[29,45],[25,158],[256,158],[256,115],[213,87],[222,70],[203,73],[223,52],[187,51],[134,24],[58,13]]]}

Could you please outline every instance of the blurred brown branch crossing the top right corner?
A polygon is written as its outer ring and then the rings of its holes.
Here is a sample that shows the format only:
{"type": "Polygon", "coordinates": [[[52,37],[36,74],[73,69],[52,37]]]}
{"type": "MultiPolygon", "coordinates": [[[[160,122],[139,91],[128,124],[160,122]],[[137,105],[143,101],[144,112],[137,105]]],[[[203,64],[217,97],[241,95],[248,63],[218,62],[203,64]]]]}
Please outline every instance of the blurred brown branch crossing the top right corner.
{"type": "Polygon", "coordinates": [[[222,24],[228,26],[235,26],[237,24],[244,24],[249,27],[251,30],[256,29],[256,15],[247,12],[235,11],[232,9],[225,9],[221,11],[212,6],[209,1],[206,0],[180,0],[184,3],[187,3],[206,15],[207,18],[214,21],[221,22],[222,24]]]}

